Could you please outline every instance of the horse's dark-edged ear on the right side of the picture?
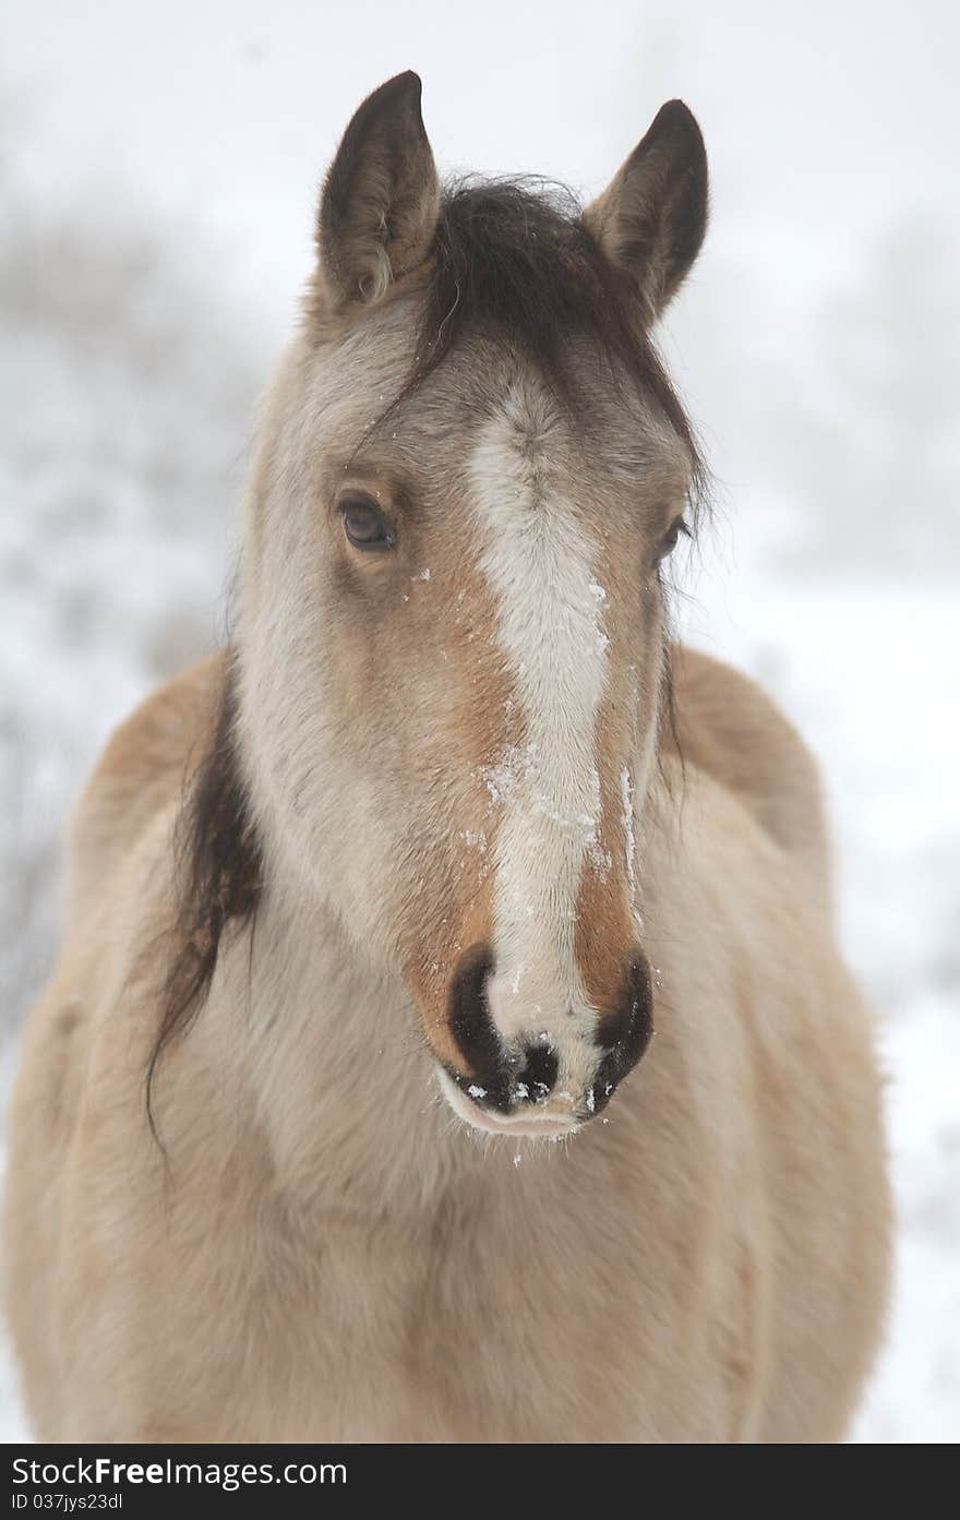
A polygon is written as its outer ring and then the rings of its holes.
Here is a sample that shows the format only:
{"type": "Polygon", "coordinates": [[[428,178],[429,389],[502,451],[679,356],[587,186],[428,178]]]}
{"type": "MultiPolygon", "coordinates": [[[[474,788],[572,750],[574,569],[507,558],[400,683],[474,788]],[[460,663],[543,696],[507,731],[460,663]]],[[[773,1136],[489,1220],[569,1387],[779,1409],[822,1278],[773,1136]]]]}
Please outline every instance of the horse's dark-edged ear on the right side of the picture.
{"type": "Polygon", "coordinates": [[[583,214],[611,263],[636,281],[647,322],[656,321],[700,252],[706,201],[700,128],[682,100],[668,100],[583,214]]]}

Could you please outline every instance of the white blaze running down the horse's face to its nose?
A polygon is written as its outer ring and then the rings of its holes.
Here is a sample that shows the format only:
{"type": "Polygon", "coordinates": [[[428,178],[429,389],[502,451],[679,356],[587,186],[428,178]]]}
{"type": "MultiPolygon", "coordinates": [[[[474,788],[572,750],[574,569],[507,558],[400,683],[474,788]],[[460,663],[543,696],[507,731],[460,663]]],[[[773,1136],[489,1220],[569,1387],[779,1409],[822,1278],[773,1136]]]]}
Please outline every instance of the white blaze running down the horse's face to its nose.
{"type": "Polygon", "coordinates": [[[598,544],[570,502],[542,494],[509,418],[494,420],[471,459],[482,570],[526,740],[483,775],[500,809],[489,999],[503,1034],[530,1018],[533,997],[557,1015],[586,1014],[574,955],[580,874],[597,851],[597,710],[608,681],[606,593],[598,544]]]}

